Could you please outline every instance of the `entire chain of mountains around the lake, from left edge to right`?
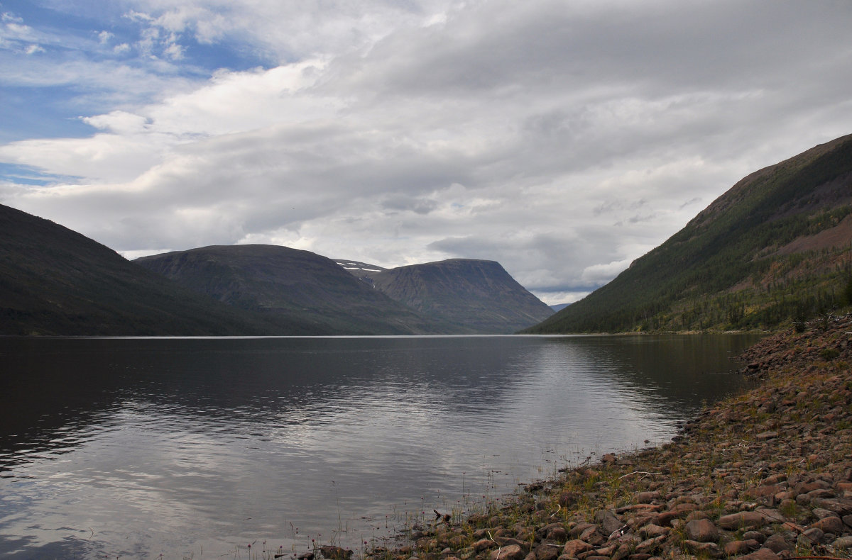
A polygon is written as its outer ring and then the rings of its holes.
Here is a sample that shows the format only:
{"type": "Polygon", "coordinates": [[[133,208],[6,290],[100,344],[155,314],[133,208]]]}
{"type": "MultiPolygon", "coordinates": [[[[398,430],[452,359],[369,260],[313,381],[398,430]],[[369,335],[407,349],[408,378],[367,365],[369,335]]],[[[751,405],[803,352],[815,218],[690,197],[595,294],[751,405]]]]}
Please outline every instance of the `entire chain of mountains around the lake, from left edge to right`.
{"type": "Polygon", "coordinates": [[[493,260],[386,269],[271,245],[129,262],[0,206],[0,334],[773,331],[852,303],[852,135],[760,169],[554,313],[493,260]]]}

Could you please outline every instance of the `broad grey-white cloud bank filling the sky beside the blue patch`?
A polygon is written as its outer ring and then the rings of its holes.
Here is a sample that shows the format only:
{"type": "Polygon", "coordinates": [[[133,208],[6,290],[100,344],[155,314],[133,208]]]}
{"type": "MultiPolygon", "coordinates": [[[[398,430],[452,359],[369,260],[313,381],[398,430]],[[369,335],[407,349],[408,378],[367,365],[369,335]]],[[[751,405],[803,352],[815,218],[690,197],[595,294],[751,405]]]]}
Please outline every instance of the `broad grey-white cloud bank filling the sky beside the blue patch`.
{"type": "MultiPolygon", "coordinates": [[[[276,124],[181,136],[127,185],[5,196],[119,250],[296,239],[383,266],[498,260],[528,289],[574,294],[742,176],[852,129],[845,3],[490,0],[432,26],[440,3],[363,6],[342,20],[386,20],[336,36],[317,82],[281,93],[276,124]],[[300,118],[291,99],[335,108],[300,118]]],[[[306,10],[322,30],[279,53],[342,21],[306,10]]],[[[144,94],[141,74],[127,79],[144,94]]],[[[160,114],[152,103],[138,114],[160,114]]]]}

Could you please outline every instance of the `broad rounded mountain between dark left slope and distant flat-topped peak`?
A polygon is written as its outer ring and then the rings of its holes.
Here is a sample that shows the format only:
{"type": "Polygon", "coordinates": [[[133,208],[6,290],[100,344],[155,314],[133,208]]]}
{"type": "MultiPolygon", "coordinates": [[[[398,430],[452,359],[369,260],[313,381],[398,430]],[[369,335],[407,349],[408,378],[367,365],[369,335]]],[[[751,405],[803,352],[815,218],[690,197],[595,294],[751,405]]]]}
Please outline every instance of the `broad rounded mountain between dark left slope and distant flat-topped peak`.
{"type": "Polygon", "coordinates": [[[272,323],[309,334],[452,334],[464,329],[422,317],[371,289],[334,261],[278,245],[227,245],[134,261],[181,286],[272,323]]]}

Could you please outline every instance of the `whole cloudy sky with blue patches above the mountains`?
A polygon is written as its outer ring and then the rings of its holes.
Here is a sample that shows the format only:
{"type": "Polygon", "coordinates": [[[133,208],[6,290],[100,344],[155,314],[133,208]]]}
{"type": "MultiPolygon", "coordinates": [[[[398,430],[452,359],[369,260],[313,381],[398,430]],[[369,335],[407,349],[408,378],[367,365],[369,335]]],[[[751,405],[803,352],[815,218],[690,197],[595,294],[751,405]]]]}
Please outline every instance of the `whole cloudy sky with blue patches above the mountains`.
{"type": "Polygon", "coordinates": [[[0,0],[0,203],[548,304],[852,133],[850,0],[0,0]]]}

